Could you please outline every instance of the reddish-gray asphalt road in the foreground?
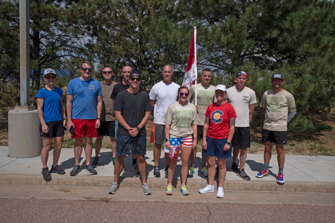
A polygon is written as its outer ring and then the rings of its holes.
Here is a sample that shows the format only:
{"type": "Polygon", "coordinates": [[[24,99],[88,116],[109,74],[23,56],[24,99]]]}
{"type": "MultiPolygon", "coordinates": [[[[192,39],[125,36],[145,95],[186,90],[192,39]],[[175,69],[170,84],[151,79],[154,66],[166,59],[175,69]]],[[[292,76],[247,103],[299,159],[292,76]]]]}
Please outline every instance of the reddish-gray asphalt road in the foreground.
{"type": "Polygon", "coordinates": [[[335,222],[334,206],[0,199],[0,222],[335,222]]]}

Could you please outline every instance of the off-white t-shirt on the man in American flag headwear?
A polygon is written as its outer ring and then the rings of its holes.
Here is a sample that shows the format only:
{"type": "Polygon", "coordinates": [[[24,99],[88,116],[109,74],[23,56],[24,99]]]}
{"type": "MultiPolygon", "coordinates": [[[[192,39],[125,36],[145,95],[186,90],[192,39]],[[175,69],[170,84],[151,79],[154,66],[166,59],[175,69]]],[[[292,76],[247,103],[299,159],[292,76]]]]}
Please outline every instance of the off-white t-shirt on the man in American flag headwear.
{"type": "Polygon", "coordinates": [[[236,111],[236,127],[249,126],[249,105],[257,102],[256,94],[253,90],[245,87],[243,90],[235,86],[227,89],[227,102],[231,104],[236,111]]]}

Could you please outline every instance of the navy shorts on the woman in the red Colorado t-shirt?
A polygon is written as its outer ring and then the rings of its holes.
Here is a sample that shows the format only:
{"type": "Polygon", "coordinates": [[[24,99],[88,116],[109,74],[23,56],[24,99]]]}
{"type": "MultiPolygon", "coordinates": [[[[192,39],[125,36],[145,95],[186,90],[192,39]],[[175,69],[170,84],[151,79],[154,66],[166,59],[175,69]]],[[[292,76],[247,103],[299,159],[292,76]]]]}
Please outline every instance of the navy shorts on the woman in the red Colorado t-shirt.
{"type": "Polygon", "coordinates": [[[228,138],[224,139],[213,139],[211,137],[206,137],[207,150],[205,151],[206,156],[216,156],[217,158],[226,159],[231,157],[231,144],[230,149],[227,151],[223,150],[223,146],[226,144],[228,138]]]}

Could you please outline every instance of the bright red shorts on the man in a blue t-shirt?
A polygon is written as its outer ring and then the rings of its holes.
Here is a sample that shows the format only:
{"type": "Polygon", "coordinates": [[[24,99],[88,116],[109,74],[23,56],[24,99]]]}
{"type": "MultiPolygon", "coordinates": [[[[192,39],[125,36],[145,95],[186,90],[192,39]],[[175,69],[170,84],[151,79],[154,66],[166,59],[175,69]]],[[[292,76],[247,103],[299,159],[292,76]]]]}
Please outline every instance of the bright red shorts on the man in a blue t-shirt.
{"type": "Polygon", "coordinates": [[[95,128],[96,119],[72,119],[74,124],[74,132],[71,138],[97,137],[97,130],[95,128]]]}

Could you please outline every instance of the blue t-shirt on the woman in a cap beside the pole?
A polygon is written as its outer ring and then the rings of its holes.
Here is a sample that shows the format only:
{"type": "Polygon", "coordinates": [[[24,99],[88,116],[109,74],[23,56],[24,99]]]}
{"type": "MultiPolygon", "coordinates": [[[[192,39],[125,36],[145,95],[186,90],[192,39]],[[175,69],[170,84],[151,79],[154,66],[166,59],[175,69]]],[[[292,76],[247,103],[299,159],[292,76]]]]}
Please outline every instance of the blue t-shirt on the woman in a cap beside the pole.
{"type": "Polygon", "coordinates": [[[62,106],[61,106],[61,98],[63,95],[63,90],[55,87],[53,91],[48,91],[41,88],[35,99],[43,98],[43,117],[45,122],[52,121],[61,121],[62,119],[62,106]]]}

